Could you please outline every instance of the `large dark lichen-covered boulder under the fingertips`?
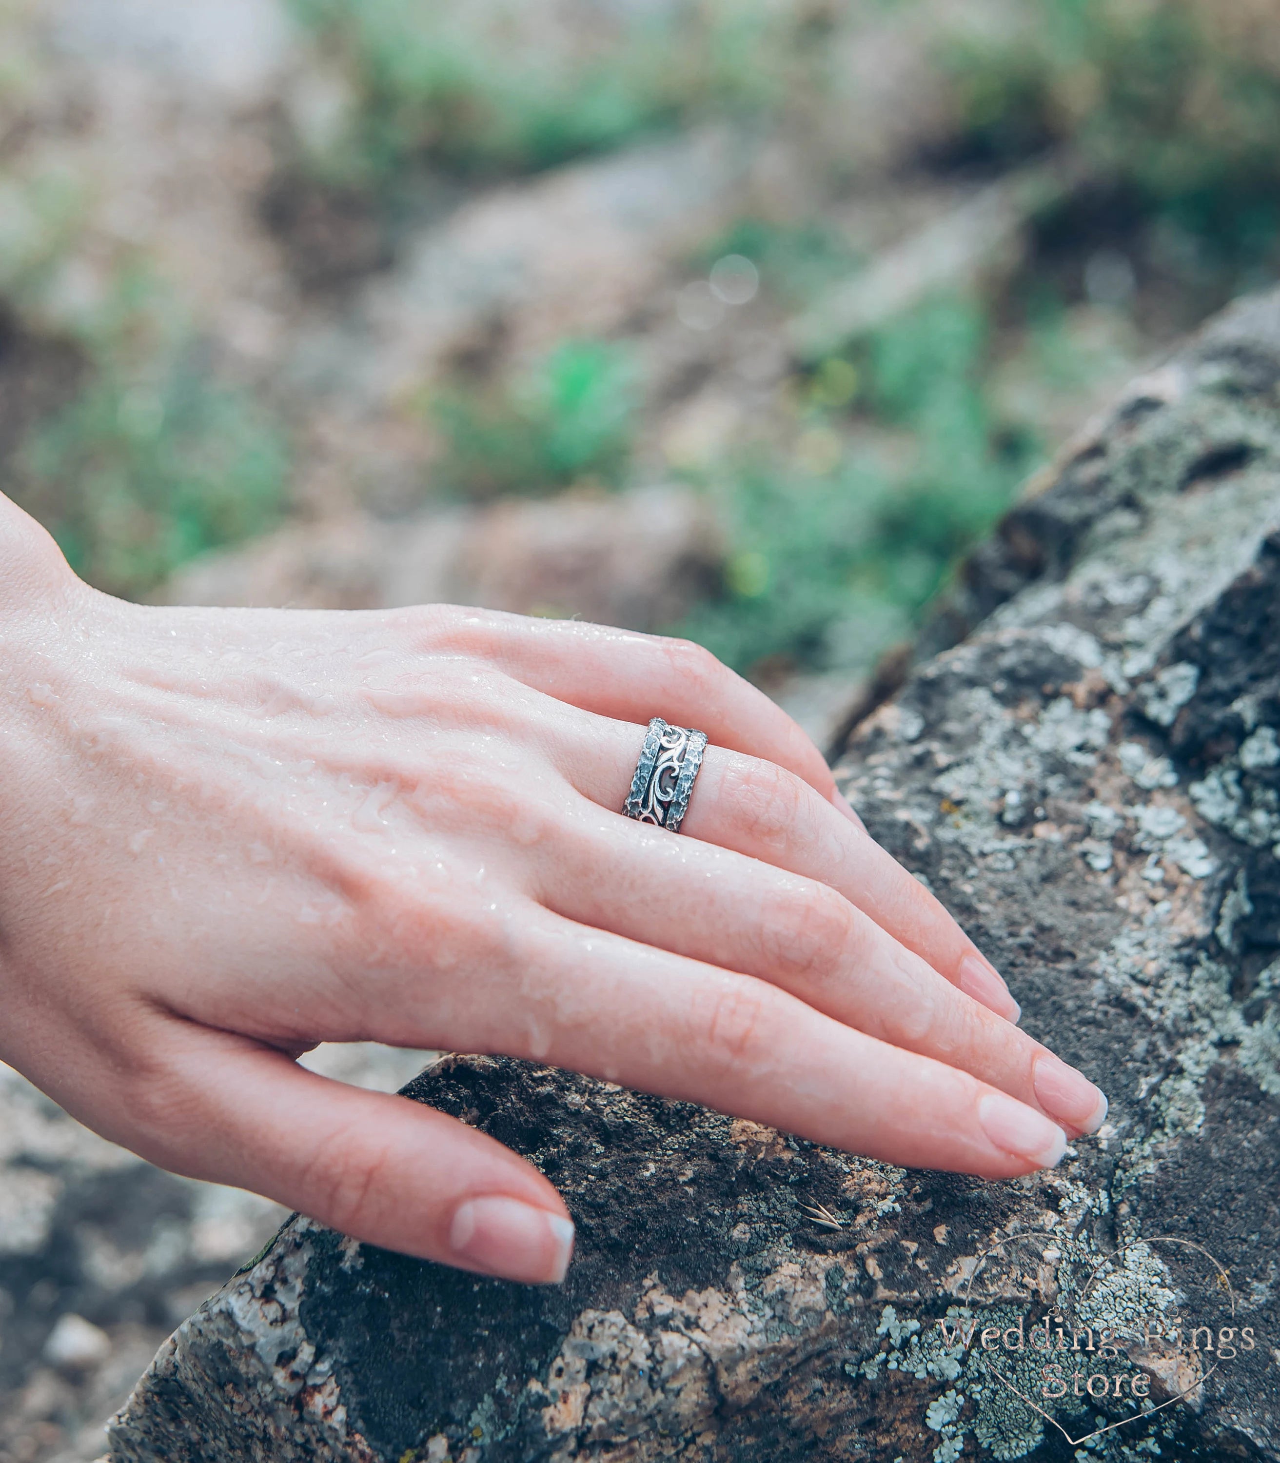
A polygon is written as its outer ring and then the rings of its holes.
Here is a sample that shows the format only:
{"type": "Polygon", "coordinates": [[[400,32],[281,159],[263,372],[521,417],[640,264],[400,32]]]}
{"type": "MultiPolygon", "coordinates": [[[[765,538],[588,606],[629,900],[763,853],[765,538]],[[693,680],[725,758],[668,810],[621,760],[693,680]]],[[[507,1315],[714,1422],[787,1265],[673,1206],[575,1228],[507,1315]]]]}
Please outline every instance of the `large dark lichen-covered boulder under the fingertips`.
{"type": "Polygon", "coordinates": [[[448,1058],[407,1096],[560,1186],[568,1283],[294,1219],[113,1463],[1280,1459],[1280,296],[1135,383],[926,644],[841,783],[1110,1094],[1102,1134],[992,1184],[448,1058]],[[1037,1327],[1077,1342],[1065,1396],[1037,1327]]]}

